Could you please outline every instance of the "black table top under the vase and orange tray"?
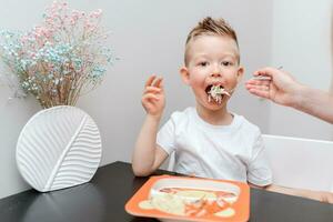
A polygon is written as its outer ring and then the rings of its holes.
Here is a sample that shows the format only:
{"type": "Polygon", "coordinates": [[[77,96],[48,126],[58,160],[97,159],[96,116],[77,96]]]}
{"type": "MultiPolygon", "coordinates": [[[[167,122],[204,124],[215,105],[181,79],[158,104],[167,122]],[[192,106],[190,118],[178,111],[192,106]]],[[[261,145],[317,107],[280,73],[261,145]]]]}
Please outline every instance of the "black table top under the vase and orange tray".
{"type": "MultiPolygon", "coordinates": [[[[162,173],[170,174],[157,172],[162,173]]],[[[0,200],[0,222],[157,221],[124,211],[127,201],[147,180],[135,178],[131,164],[114,162],[82,185],[49,193],[29,190],[0,200]]],[[[333,222],[333,204],[251,189],[250,221],[333,222]]]]}

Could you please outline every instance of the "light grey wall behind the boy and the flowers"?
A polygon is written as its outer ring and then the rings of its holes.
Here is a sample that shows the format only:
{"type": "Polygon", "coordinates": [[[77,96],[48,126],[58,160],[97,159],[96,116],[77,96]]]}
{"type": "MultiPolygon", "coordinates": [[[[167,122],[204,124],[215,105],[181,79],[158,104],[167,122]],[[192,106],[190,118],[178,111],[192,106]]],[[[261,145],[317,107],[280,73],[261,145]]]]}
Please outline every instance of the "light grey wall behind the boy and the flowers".
{"type": "MultiPolygon", "coordinates": [[[[50,2],[0,0],[0,28],[29,29],[39,21],[50,2]]],[[[159,73],[165,79],[164,121],[172,111],[194,104],[178,69],[183,60],[185,37],[199,19],[223,17],[235,28],[245,79],[254,69],[271,61],[272,1],[72,0],[70,7],[80,10],[101,8],[104,11],[104,24],[113,32],[110,44],[121,59],[109,69],[102,85],[78,103],[100,127],[102,164],[130,161],[144,117],[140,98],[149,74],[159,73]]],[[[33,98],[8,103],[9,95],[9,89],[0,87],[0,198],[28,188],[16,169],[16,141],[23,124],[40,109],[33,98]]],[[[231,107],[268,132],[269,114],[259,113],[269,113],[269,103],[249,95],[243,84],[231,107]]]]}

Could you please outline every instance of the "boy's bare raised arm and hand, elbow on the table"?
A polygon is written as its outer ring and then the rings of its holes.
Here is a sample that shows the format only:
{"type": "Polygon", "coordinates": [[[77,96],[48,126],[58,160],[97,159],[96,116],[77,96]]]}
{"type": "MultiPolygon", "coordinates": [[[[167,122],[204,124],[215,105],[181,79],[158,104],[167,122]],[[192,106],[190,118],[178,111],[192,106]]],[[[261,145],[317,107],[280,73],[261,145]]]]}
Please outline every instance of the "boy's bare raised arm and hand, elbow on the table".
{"type": "Polygon", "coordinates": [[[144,176],[154,172],[168,158],[168,153],[157,145],[157,133],[165,104],[161,78],[152,75],[148,79],[141,102],[147,117],[137,139],[132,169],[135,175],[144,176]]]}

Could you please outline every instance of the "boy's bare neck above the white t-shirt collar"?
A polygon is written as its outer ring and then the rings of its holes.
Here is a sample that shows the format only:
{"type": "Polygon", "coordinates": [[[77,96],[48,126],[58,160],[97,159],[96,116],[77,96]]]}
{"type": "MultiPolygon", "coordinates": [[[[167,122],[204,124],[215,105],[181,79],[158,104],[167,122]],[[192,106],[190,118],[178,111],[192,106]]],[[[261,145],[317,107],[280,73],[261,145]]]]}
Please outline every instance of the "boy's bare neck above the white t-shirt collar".
{"type": "Polygon", "coordinates": [[[229,125],[233,120],[233,115],[228,112],[226,107],[220,110],[209,110],[196,104],[196,112],[202,120],[213,125],[229,125]]]}

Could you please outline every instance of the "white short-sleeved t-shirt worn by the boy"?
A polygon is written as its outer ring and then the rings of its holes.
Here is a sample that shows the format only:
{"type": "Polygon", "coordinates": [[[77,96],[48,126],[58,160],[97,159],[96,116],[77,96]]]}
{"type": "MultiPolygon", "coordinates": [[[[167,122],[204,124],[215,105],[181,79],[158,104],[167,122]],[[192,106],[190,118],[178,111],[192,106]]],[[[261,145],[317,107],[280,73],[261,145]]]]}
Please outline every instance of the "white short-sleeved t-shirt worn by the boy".
{"type": "Polygon", "coordinates": [[[242,115],[233,115],[230,125],[212,125],[195,108],[174,112],[159,131],[157,143],[169,154],[175,152],[175,172],[271,184],[272,171],[259,128],[242,115]]]}

